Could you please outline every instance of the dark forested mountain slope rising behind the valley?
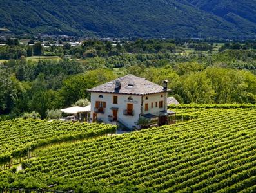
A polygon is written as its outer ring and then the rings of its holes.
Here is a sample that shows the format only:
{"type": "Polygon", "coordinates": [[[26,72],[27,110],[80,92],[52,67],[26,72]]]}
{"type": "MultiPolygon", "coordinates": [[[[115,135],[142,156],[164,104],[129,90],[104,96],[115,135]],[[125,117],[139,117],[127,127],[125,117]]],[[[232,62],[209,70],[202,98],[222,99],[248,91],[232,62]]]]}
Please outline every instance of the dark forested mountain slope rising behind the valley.
{"type": "Polygon", "coordinates": [[[15,34],[253,38],[255,2],[0,0],[0,33],[8,29],[15,34]]]}

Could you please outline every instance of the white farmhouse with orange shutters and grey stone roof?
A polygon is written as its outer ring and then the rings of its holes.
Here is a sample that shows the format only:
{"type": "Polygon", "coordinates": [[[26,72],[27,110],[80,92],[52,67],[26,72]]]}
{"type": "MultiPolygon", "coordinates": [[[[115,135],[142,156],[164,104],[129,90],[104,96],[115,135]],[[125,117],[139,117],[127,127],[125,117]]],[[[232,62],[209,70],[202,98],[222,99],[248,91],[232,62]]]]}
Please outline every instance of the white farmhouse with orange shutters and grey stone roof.
{"type": "Polygon", "coordinates": [[[159,86],[145,78],[126,75],[91,92],[91,120],[139,128],[139,118],[150,120],[150,126],[175,122],[175,113],[167,110],[168,81],[159,86]]]}

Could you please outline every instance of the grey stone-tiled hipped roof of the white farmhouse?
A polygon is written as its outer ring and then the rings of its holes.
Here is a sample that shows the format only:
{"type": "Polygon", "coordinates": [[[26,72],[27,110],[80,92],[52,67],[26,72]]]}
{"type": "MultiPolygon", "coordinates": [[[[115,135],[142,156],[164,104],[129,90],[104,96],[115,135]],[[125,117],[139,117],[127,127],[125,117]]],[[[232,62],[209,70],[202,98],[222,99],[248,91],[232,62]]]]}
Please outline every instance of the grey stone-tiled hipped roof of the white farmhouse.
{"type": "Polygon", "coordinates": [[[99,93],[120,93],[130,95],[148,95],[153,93],[166,92],[163,86],[159,86],[145,78],[139,78],[134,75],[126,75],[116,80],[112,80],[100,86],[89,89],[90,92],[99,93]],[[115,82],[120,82],[119,89],[115,89],[115,82]]]}

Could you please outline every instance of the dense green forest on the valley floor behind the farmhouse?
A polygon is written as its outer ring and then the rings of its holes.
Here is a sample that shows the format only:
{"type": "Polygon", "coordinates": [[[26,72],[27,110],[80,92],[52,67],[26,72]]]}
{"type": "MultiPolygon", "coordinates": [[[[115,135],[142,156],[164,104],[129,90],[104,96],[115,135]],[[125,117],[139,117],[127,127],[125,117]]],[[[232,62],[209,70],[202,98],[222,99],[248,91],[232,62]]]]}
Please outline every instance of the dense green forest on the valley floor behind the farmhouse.
{"type": "Polygon", "coordinates": [[[256,102],[255,42],[181,40],[113,42],[90,39],[80,46],[20,44],[0,47],[0,113],[6,117],[72,106],[86,91],[128,73],[162,84],[182,103],[256,102]],[[31,56],[39,56],[30,60],[31,56]],[[58,60],[40,59],[47,55],[58,60]]]}

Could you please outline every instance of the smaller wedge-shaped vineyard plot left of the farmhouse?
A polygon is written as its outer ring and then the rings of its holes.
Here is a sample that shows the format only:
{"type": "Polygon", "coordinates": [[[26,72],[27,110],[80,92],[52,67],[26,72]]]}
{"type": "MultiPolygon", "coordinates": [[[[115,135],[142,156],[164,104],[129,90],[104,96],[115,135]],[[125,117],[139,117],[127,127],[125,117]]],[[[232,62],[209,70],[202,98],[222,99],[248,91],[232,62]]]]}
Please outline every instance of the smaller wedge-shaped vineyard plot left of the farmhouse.
{"type": "MultiPolygon", "coordinates": [[[[112,125],[47,120],[7,120],[0,122],[0,166],[27,156],[29,150],[50,143],[115,133],[112,125]]],[[[0,168],[1,170],[1,168],[0,168]]]]}

